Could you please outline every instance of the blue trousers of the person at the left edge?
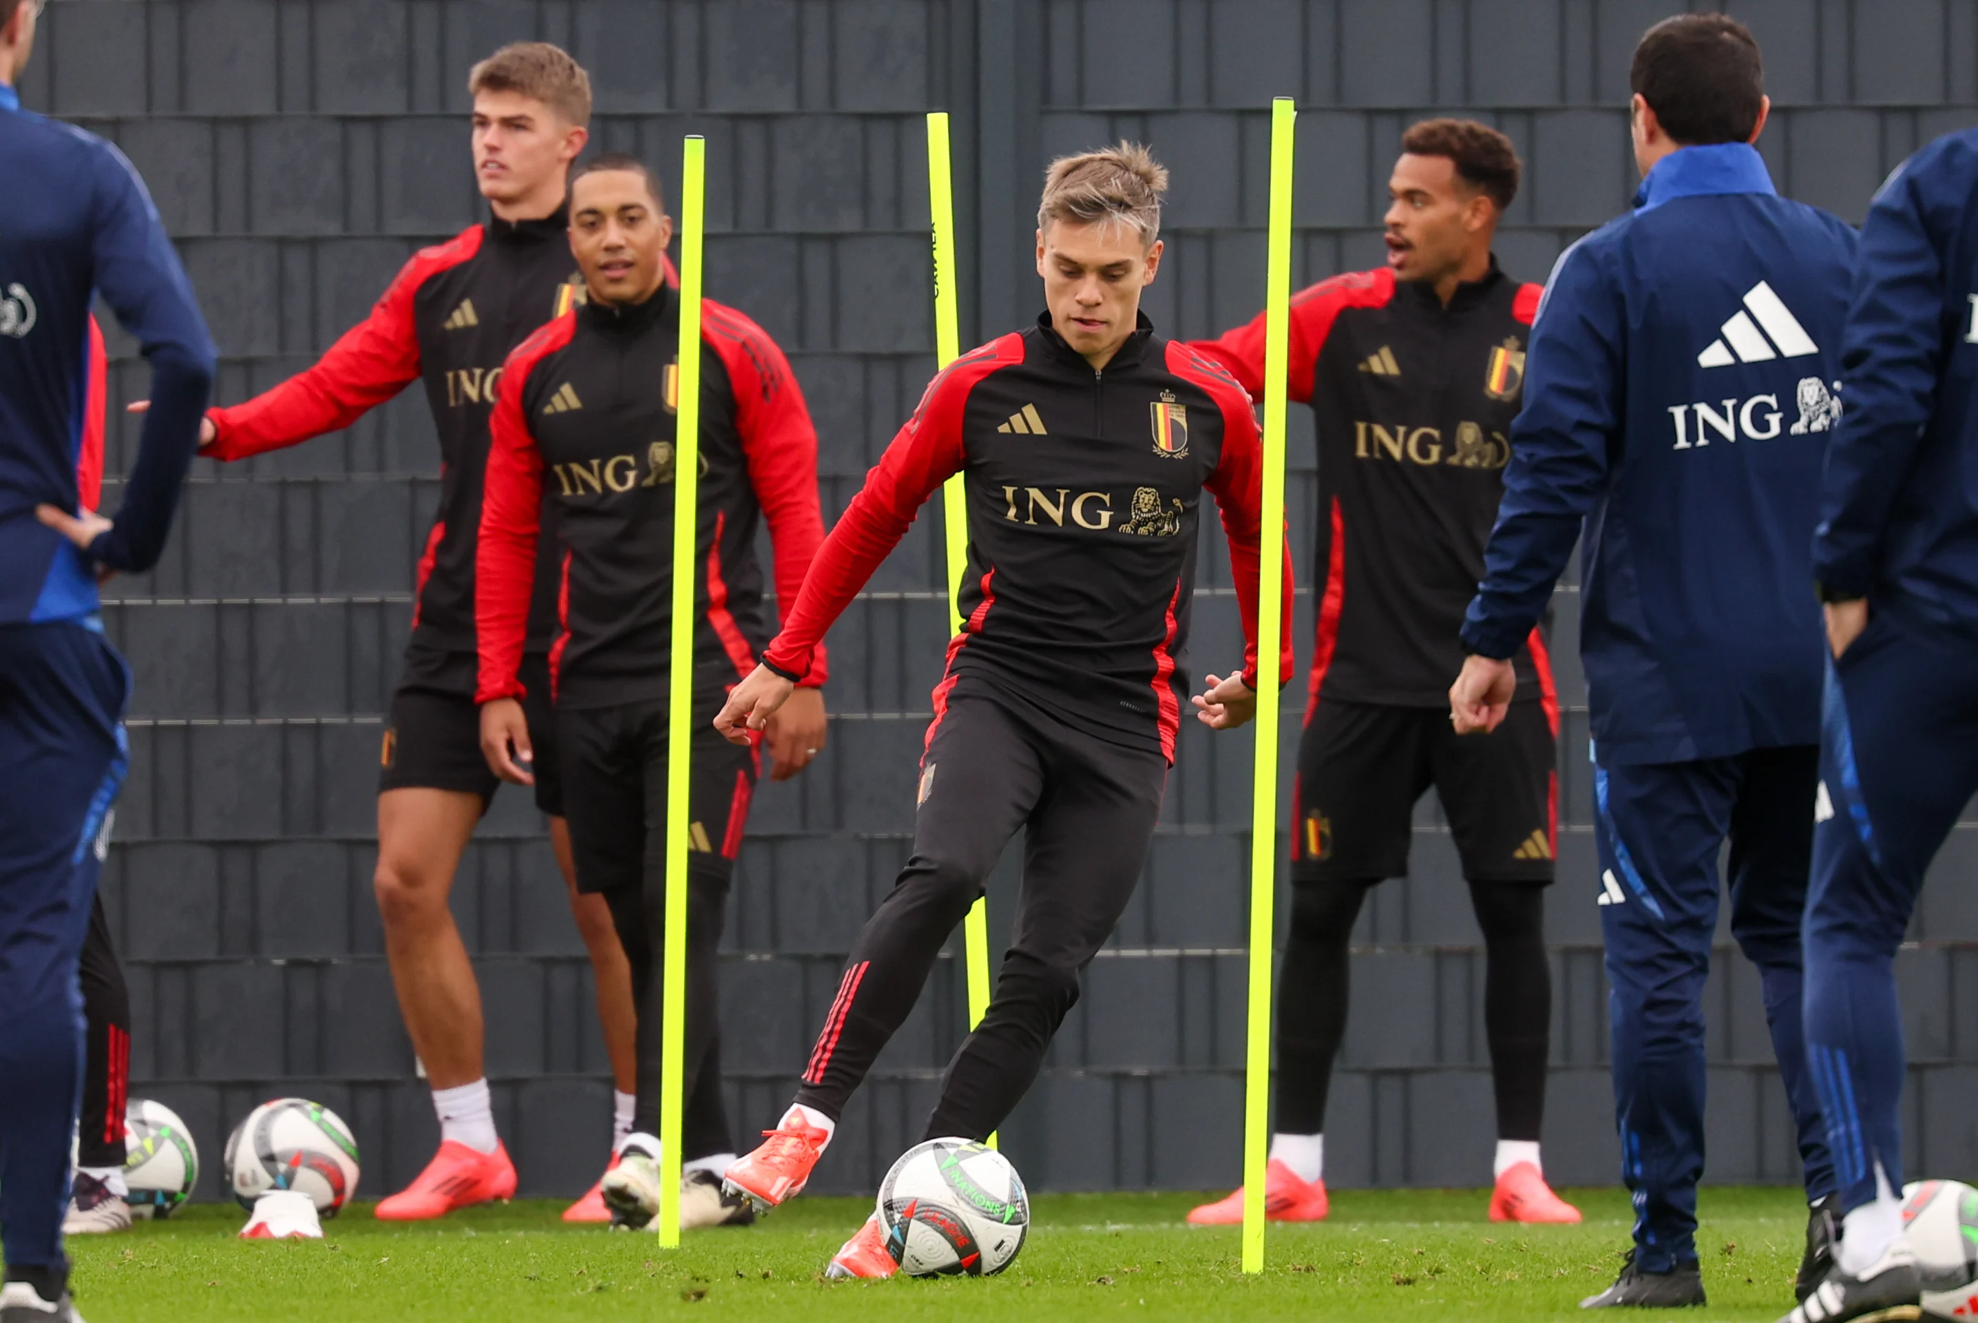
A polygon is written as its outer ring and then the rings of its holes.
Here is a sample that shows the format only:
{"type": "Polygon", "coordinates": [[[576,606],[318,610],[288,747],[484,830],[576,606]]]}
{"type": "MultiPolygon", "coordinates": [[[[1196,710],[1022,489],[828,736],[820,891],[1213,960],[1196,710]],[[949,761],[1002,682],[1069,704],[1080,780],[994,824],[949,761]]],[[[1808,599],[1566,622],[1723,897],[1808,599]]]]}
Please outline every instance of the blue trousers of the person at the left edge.
{"type": "Polygon", "coordinates": [[[99,629],[0,625],[0,1242],[63,1274],[83,1090],[75,967],[127,763],[131,676],[99,629]]]}

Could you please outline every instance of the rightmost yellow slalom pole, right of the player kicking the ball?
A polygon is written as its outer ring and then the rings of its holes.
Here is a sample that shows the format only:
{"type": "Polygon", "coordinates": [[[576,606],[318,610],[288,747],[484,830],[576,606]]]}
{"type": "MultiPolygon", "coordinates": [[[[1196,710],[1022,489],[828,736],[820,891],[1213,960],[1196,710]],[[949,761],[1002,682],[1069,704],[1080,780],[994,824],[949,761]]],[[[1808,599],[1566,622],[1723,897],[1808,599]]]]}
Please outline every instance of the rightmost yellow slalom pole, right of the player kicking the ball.
{"type": "Polygon", "coordinates": [[[1256,593],[1256,799],[1250,807],[1250,1016],[1242,1096],[1242,1270],[1264,1272],[1270,1143],[1270,965],[1278,904],[1278,651],[1284,609],[1284,409],[1292,358],[1290,97],[1270,103],[1270,247],[1264,265],[1264,554],[1256,593]]]}

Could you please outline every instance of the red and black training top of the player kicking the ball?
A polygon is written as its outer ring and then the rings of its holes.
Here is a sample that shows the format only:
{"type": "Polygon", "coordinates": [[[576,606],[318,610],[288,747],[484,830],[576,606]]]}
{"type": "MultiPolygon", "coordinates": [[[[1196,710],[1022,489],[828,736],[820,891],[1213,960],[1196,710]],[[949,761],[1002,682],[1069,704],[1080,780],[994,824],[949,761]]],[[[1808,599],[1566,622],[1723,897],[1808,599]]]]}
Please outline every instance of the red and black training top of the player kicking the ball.
{"type": "MultiPolygon", "coordinates": [[[[825,631],[953,473],[967,486],[965,623],[947,645],[936,718],[967,676],[1173,759],[1203,488],[1222,512],[1244,678],[1256,684],[1256,415],[1226,372],[1153,334],[1145,316],[1104,372],[1044,314],[936,376],[825,540],[764,655],[769,666],[815,672],[825,631]]],[[[1290,570],[1286,554],[1286,619],[1290,570]]],[[[1290,668],[1286,629],[1280,682],[1290,668]]]]}

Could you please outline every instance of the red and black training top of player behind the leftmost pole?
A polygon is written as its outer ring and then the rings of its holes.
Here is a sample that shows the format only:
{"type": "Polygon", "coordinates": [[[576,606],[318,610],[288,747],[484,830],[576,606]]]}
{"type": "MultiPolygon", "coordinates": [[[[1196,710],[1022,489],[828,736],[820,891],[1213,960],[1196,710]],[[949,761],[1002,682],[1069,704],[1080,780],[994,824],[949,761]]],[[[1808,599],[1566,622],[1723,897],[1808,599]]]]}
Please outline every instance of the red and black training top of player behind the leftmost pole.
{"type": "MultiPolygon", "coordinates": [[[[702,301],[700,514],[694,692],[718,698],[756,668],[771,623],[756,528],[793,601],[825,538],[817,431],[797,378],[762,326],[702,301]]],[[[673,447],[680,299],[585,303],[508,356],[496,390],[475,607],[479,702],[522,692],[538,514],[556,510],[556,702],[599,708],[667,696],[673,647],[673,447]]],[[[825,682],[819,655],[807,684],[825,682]]]]}

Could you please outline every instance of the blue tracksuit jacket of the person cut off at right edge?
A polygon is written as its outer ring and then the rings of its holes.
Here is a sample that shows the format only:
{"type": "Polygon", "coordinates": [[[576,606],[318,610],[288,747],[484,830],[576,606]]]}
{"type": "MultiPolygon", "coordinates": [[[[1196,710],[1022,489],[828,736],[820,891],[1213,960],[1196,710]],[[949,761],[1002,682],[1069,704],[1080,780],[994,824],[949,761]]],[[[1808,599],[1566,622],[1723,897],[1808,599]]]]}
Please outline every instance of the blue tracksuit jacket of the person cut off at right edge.
{"type": "Polygon", "coordinates": [[[1978,131],[1889,176],[1861,227],[1814,573],[1978,629],[1978,131]]]}

